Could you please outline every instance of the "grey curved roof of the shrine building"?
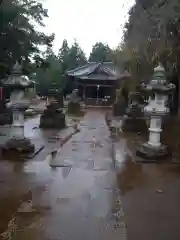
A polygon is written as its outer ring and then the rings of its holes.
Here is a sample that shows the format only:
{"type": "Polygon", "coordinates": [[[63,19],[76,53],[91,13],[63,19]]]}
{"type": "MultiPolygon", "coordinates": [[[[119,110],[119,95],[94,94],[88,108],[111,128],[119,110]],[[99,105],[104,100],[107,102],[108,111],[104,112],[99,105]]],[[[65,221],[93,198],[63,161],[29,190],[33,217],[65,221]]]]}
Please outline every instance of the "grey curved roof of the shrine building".
{"type": "Polygon", "coordinates": [[[117,80],[131,75],[120,67],[115,66],[112,62],[89,62],[88,64],[67,71],[68,76],[73,76],[80,79],[102,79],[102,80],[117,80]]]}

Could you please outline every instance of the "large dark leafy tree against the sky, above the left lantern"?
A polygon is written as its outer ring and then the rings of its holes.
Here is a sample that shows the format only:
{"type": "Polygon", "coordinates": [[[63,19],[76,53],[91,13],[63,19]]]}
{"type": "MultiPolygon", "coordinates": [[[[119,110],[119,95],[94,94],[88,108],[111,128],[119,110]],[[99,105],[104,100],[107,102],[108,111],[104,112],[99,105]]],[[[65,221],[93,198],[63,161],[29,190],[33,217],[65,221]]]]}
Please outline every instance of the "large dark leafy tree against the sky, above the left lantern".
{"type": "Polygon", "coordinates": [[[0,7],[0,75],[11,69],[17,60],[30,62],[39,54],[39,45],[51,46],[54,35],[37,31],[43,27],[47,10],[39,0],[6,0],[0,7]]]}

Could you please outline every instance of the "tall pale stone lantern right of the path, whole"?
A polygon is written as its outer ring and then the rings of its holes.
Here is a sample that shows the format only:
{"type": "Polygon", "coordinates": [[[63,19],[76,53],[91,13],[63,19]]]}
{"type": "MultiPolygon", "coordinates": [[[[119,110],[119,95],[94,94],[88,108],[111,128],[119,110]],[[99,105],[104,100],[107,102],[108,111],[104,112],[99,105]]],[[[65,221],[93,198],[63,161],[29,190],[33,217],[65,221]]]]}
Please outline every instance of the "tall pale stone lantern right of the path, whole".
{"type": "Polygon", "coordinates": [[[169,154],[167,146],[160,140],[162,119],[169,114],[167,106],[168,95],[175,89],[175,85],[168,83],[165,69],[159,65],[154,69],[152,79],[148,84],[142,84],[142,89],[149,93],[148,104],[144,107],[144,114],[150,118],[149,141],[137,148],[140,157],[157,160],[169,154]]]}

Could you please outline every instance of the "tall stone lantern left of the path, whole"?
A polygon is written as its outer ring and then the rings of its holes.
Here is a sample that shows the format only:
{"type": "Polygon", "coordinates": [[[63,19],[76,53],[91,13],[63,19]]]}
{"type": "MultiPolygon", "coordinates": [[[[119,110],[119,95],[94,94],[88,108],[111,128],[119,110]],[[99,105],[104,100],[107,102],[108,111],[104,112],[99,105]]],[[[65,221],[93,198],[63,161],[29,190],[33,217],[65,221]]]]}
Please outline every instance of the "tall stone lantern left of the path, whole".
{"type": "Polygon", "coordinates": [[[19,152],[34,151],[34,145],[30,139],[24,136],[24,112],[30,101],[27,89],[32,87],[32,81],[22,73],[22,67],[16,63],[11,75],[4,81],[3,85],[11,90],[10,102],[7,107],[12,109],[13,123],[10,127],[10,136],[5,144],[5,149],[14,149],[19,152]]]}

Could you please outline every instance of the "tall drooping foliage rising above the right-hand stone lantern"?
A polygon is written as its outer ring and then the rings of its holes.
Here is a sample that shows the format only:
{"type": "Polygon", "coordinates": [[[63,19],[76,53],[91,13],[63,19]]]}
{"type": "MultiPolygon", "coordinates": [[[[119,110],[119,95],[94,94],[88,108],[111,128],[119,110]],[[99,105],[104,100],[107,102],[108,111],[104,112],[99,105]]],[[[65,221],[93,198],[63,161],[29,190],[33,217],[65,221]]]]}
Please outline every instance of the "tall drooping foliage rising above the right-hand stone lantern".
{"type": "Polygon", "coordinates": [[[179,0],[136,0],[125,25],[126,46],[143,60],[140,67],[158,61],[169,71],[179,71],[179,0]]]}

